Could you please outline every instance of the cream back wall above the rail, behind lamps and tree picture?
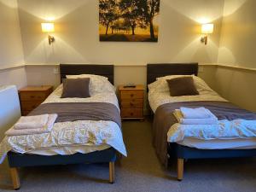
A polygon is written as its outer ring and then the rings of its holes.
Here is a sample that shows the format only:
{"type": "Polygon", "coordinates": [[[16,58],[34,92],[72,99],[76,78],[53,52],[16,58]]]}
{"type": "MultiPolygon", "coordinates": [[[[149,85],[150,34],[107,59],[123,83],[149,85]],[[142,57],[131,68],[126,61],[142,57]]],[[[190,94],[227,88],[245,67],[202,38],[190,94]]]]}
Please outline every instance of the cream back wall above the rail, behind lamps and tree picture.
{"type": "Polygon", "coordinates": [[[215,63],[224,0],[161,0],[159,43],[101,43],[98,0],[18,0],[26,64],[198,61],[215,63]],[[55,43],[49,46],[40,23],[55,18],[55,43]],[[215,23],[209,44],[201,44],[200,21],[215,23]]]}

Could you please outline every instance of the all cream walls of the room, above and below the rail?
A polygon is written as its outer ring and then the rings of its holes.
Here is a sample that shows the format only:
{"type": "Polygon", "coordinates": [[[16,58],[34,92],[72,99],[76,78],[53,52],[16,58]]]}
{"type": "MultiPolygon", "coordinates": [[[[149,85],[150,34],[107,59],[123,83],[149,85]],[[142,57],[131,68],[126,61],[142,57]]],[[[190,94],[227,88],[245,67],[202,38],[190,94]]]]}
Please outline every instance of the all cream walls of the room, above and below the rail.
{"type": "MultiPolygon", "coordinates": [[[[54,63],[114,64],[116,85],[146,84],[145,65],[148,62],[196,61],[255,67],[253,0],[161,0],[157,44],[99,42],[98,0],[18,0],[18,5],[19,17],[15,1],[0,0],[0,15],[7,15],[0,18],[1,28],[7,29],[0,37],[5,43],[0,44],[3,58],[0,65],[9,67],[23,63],[21,28],[26,64],[42,64],[43,67],[33,65],[0,70],[1,84],[21,87],[27,79],[27,84],[57,86],[59,74],[54,73],[55,65],[49,65],[54,63]],[[40,26],[48,17],[55,17],[56,41],[52,46],[40,26]],[[215,24],[207,46],[200,42],[203,18],[215,24]]],[[[212,89],[231,102],[256,111],[253,71],[216,66],[201,66],[200,70],[201,78],[212,89]]]]}

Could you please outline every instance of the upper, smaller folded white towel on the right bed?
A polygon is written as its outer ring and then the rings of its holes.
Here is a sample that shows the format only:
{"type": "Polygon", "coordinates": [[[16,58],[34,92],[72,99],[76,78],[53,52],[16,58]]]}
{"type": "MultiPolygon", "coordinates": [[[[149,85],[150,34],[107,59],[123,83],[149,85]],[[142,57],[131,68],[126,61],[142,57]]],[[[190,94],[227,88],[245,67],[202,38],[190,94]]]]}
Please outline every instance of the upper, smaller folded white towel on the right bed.
{"type": "Polygon", "coordinates": [[[180,108],[180,111],[186,119],[204,119],[211,117],[206,108],[180,108]]]}

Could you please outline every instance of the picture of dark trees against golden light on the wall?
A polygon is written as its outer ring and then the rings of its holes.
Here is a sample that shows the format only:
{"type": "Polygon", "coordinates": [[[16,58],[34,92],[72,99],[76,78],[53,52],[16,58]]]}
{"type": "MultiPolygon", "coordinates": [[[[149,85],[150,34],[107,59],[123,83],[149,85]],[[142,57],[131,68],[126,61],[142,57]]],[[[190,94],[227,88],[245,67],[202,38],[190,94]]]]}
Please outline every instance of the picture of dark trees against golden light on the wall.
{"type": "Polygon", "coordinates": [[[160,0],[99,0],[100,41],[158,42],[160,0]]]}

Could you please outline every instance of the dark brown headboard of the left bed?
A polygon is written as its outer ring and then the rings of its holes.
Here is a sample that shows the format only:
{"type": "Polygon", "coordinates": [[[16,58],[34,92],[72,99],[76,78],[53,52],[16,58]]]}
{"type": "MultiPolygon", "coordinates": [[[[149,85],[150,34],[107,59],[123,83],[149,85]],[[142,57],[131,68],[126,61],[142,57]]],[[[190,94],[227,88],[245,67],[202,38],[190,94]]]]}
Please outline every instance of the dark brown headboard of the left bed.
{"type": "Polygon", "coordinates": [[[96,74],[108,78],[108,81],[113,84],[113,65],[61,64],[60,73],[61,81],[66,79],[66,75],[96,74]]]}

